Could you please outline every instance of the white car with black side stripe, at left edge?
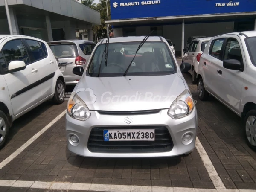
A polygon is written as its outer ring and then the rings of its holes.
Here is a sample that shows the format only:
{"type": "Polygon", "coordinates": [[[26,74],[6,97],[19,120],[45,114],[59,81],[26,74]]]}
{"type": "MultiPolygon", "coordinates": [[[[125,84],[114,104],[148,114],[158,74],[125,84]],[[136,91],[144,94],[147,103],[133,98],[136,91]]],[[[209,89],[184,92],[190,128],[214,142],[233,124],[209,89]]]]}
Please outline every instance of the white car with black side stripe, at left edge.
{"type": "Polygon", "coordinates": [[[64,102],[64,76],[48,44],[0,35],[0,149],[12,122],[47,99],[64,102]]]}

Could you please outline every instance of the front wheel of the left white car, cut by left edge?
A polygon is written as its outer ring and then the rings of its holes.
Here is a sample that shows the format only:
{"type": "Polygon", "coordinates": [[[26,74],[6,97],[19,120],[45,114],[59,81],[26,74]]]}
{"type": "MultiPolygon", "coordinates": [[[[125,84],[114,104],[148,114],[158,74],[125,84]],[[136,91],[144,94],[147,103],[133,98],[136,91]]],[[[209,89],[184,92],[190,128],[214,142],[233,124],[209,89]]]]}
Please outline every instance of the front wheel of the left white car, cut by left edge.
{"type": "Polygon", "coordinates": [[[0,110],[0,149],[2,149],[6,143],[9,135],[10,124],[8,118],[3,111],[0,110]]]}

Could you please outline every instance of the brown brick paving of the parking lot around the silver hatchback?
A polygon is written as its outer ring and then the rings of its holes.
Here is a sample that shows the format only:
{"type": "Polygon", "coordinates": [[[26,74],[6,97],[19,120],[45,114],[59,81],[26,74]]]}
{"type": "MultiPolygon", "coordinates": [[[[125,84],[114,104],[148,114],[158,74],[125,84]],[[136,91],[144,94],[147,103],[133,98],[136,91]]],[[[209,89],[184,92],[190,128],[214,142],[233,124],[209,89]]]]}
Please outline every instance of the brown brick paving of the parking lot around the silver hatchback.
{"type": "MultiPolygon", "coordinates": [[[[195,100],[197,86],[184,74],[195,100]]],[[[213,97],[197,102],[198,137],[227,188],[256,189],[256,153],[247,147],[240,119],[213,97]]],[[[64,111],[46,103],[17,120],[3,160],[64,111]]],[[[214,188],[195,150],[172,158],[87,158],[67,150],[63,116],[25,151],[0,170],[0,179],[143,186],[214,188]]],[[[8,189],[15,190],[15,189],[8,189]]],[[[25,189],[24,189],[25,190],[25,189]]],[[[0,190],[2,191],[2,190],[0,190]]]]}

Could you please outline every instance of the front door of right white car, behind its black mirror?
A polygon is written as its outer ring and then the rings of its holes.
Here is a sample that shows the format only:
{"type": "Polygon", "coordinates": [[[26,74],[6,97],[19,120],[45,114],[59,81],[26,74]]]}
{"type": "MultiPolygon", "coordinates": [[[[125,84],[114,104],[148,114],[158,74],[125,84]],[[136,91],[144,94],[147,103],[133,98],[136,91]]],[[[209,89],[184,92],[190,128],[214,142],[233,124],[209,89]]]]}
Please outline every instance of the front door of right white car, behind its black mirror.
{"type": "MultiPolygon", "coordinates": [[[[236,59],[240,61],[243,66],[246,66],[241,41],[236,35],[229,35],[229,38],[227,38],[225,42],[223,61],[227,59],[236,59]]],[[[230,70],[224,68],[222,64],[219,66],[218,72],[216,72],[219,77],[219,90],[217,94],[221,100],[236,113],[239,113],[241,88],[246,74],[246,67],[243,68],[243,71],[230,70]]]]}

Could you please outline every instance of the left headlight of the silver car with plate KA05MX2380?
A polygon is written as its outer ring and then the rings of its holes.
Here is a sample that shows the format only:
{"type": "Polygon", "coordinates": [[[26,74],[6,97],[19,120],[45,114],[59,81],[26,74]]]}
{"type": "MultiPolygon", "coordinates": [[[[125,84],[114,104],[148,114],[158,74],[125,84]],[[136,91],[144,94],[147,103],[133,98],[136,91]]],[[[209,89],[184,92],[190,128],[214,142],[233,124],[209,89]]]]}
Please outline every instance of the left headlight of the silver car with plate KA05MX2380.
{"type": "Polygon", "coordinates": [[[78,119],[80,121],[85,121],[91,116],[87,105],[76,92],[71,94],[67,102],[67,113],[74,119],[78,119]]]}

